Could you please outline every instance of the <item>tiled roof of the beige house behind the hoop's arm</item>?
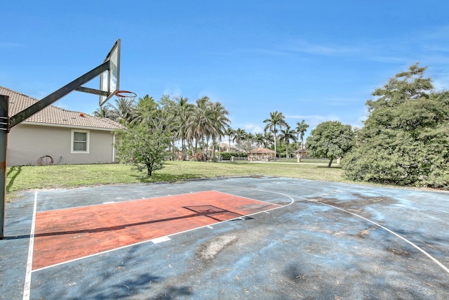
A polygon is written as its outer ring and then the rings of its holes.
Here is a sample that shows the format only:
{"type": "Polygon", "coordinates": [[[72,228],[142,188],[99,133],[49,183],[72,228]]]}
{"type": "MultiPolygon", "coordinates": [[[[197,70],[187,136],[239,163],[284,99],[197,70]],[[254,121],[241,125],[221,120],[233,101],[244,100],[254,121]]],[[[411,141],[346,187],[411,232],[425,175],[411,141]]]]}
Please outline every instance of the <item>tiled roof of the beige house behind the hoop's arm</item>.
{"type": "MultiPolygon", "coordinates": [[[[11,91],[0,86],[0,95],[9,96],[9,116],[13,116],[25,108],[36,103],[37,99],[11,91]]],[[[54,105],[48,105],[43,110],[36,112],[26,122],[53,124],[62,126],[76,126],[98,129],[121,129],[123,126],[111,119],[94,117],[85,112],[74,112],[72,110],[64,110],[54,105]]]]}

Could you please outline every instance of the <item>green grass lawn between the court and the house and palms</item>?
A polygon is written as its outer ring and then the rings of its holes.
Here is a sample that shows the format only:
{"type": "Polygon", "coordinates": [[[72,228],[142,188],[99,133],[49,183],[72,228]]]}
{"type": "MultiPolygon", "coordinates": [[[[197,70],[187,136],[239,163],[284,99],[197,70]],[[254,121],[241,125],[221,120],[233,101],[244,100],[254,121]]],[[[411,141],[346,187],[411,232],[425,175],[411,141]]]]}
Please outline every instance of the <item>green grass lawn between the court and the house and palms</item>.
{"type": "Polygon", "coordinates": [[[194,178],[222,176],[284,176],[322,181],[344,181],[342,169],[326,164],[280,164],[250,162],[166,162],[165,168],[147,177],[125,164],[66,164],[53,166],[8,167],[6,174],[7,197],[21,190],[38,188],[76,188],[90,185],[121,183],[152,183],[182,181],[194,178]]]}

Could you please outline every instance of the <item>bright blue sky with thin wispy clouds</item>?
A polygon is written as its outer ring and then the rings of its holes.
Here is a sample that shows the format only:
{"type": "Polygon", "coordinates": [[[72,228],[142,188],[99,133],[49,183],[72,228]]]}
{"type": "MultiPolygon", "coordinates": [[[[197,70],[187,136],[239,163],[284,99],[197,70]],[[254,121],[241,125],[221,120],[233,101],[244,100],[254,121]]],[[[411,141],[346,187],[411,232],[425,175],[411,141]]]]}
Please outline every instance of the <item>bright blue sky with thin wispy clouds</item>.
{"type": "MultiPolygon", "coordinates": [[[[6,1],[0,85],[41,99],[119,38],[120,88],[138,97],[209,96],[253,133],[275,110],[308,133],[328,120],[362,126],[371,93],[413,63],[449,88],[448,11],[444,0],[6,1]]],[[[55,105],[92,113],[98,97],[55,105]]]]}

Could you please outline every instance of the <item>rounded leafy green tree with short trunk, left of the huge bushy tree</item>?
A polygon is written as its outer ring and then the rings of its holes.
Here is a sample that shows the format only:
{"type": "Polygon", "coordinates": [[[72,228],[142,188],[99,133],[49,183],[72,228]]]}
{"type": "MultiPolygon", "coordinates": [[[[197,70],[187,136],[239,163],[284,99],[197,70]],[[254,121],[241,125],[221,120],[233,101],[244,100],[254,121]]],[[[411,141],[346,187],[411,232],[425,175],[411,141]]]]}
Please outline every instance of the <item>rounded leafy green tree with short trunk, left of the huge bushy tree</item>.
{"type": "Polygon", "coordinates": [[[354,145],[354,133],[350,125],[338,121],[323,122],[311,131],[307,138],[307,152],[311,157],[326,157],[333,159],[342,157],[354,145]]]}

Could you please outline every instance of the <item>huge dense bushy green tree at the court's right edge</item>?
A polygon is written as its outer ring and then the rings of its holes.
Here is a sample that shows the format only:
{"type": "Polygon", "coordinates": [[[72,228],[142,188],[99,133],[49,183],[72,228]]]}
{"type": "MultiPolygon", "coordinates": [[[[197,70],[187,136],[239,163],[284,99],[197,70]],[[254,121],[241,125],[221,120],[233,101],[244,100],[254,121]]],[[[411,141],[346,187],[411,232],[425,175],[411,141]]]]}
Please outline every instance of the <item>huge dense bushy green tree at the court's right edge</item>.
{"type": "Polygon", "coordinates": [[[368,119],[342,161],[356,181],[449,188],[449,92],[435,93],[417,64],[368,100],[368,119]]]}

